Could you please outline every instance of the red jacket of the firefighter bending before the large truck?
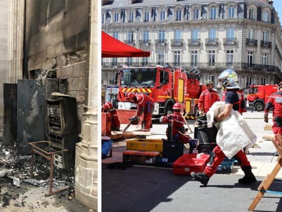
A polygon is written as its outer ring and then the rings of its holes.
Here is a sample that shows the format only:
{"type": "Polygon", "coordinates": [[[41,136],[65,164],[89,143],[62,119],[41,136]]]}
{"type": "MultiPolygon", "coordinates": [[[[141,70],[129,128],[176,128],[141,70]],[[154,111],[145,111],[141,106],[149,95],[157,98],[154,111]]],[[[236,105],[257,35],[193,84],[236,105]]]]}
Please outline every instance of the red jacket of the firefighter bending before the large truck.
{"type": "Polygon", "coordinates": [[[137,97],[137,101],[135,101],[135,103],[137,104],[138,110],[136,116],[140,117],[143,113],[153,114],[155,107],[154,100],[144,93],[135,95],[137,97]]]}

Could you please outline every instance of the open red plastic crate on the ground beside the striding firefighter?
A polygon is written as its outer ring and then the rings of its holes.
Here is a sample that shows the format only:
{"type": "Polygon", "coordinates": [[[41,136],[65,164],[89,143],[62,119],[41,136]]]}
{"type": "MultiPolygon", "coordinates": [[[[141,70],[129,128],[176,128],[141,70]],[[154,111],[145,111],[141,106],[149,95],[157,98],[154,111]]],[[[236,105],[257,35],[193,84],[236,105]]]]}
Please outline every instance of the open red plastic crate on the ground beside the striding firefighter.
{"type": "Polygon", "coordinates": [[[208,160],[208,154],[201,154],[200,158],[193,153],[183,154],[173,163],[173,174],[190,175],[191,172],[203,172],[208,160]]]}

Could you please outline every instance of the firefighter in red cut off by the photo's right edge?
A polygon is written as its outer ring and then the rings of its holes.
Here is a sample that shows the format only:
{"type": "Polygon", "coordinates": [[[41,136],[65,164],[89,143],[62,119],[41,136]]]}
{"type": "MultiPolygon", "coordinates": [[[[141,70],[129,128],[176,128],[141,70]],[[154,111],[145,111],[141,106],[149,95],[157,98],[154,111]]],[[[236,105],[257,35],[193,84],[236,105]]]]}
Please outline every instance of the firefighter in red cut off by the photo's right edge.
{"type": "MultiPolygon", "coordinates": [[[[278,84],[278,92],[272,93],[266,102],[264,109],[264,122],[268,123],[268,112],[273,107],[273,133],[282,135],[282,81],[278,84]]],[[[274,152],[274,156],[279,156],[274,152]]]]}

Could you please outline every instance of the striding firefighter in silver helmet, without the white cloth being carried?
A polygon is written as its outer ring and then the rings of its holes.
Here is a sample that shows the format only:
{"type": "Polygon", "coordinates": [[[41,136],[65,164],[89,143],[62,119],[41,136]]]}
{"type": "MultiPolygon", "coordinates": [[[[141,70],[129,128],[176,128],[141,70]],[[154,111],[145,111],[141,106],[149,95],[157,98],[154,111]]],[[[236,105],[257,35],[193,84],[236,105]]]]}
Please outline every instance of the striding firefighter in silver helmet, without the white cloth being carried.
{"type": "MultiPolygon", "coordinates": [[[[218,117],[215,118],[217,121],[222,121],[230,115],[232,109],[239,111],[241,102],[236,91],[240,88],[240,86],[238,82],[238,76],[232,69],[223,71],[218,77],[218,80],[221,81],[222,86],[226,89],[224,110],[218,115],[218,117]]],[[[238,182],[241,184],[255,183],[256,178],[251,171],[252,167],[247,159],[245,152],[243,150],[240,150],[238,151],[236,156],[239,159],[238,162],[240,163],[243,172],[245,173],[245,176],[239,179],[238,182]]],[[[209,178],[216,173],[217,167],[222,163],[224,158],[225,154],[219,146],[216,146],[212,152],[212,155],[210,156],[209,163],[205,167],[204,172],[191,172],[191,176],[201,184],[206,185],[209,178]]]]}

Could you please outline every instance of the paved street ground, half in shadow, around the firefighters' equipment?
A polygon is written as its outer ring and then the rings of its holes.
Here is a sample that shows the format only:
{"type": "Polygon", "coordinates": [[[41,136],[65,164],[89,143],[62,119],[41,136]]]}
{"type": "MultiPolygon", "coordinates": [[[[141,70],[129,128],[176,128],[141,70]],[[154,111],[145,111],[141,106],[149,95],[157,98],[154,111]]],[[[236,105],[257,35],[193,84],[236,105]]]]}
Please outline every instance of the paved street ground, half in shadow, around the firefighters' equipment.
{"type": "MultiPolygon", "coordinates": [[[[206,187],[200,186],[190,176],[174,175],[172,169],[148,166],[107,169],[108,163],[122,162],[125,142],[119,141],[114,143],[113,157],[102,160],[102,211],[248,211],[257,187],[272,171],[277,157],[273,156],[275,148],[272,142],[262,139],[263,135],[273,135],[272,131],[263,130],[263,113],[248,112],[244,118],[257,135],[256,148],[251,148],[247,155],[257,183],[251,186],[238,184],[243,175],[239,166],[235,166],[231,174],[215,174],[206,187]]],[[[188,123],[192,128],[194,121],[188,123]]],[[[166,127],[154,121],[154,135],[148,138],[164,138],[166,127]]],[[[129,129],[135,130],[136,126],[129,129]]],[[[193,137],[192,133],[190,135],[193,137]]],[[[281,171],[277,177],[282,178],[281,171]]],[[[282,191],[282,184],[275,181],[269,190],[282,191]]],[[[282,211],[280,197],[264,194],[255,211],[282,211]]]]}

